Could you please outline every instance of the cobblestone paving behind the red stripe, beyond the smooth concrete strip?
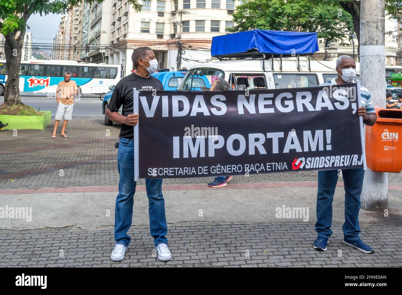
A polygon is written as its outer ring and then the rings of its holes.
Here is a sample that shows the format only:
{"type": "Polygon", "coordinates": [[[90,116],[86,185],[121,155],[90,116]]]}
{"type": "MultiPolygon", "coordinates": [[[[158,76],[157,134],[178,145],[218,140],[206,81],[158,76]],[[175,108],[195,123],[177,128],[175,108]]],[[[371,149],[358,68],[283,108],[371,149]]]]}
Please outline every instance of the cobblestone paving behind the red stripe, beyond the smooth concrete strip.
{"type": "MultiPolygon", "coordinates": [[[[119,125],[104,126],[103,119],[74,119],[69,122],[66,130],[68,138],[51,138],[53,122],[54,120],[45,130],[17,130],[16,134],[12,130],[0,131],[2,189],[118,184],[117,150],[114,148],[114,142],[119,136],[119,125]],[[108,132],[110,136],[107,136],[108,132]],[[59,176],[61,172],[63,177],[59,176]]],[[[232,183],[316,179],[316,171],[306,171],[234,177],[232,183]]],[[[388,179],[390,183],[400,184],[402,173],[389,173],[388,179]]],[[[165,179],[164,183],[205,184],[209,181],[209,178],[187,178],[165,179]]],[[[143,182],[144,179],[139,180],[138,184],[143,182]]]]}

